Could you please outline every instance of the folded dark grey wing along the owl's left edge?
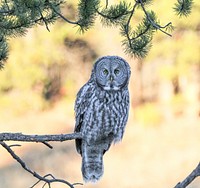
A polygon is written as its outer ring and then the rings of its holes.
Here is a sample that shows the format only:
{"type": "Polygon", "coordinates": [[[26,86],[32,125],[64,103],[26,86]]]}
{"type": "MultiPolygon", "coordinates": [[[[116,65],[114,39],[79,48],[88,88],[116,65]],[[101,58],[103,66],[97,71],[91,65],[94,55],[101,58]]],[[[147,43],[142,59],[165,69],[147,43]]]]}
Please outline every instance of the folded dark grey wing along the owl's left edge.
{"type": "MultiPolygon", "coordinates": [[[[92,95],[92,86],[88,83],[85,84],[77,94],[75,101],[75,108],[74,108],[75,118],[76,118],[74,132],[81,132],[82,124],[84,121],[84,114],[88,109],[91,95],[92,95]]],[[[75,143],[77,152],[81,154],[82,139],[76,139],[75,143]]]]}

